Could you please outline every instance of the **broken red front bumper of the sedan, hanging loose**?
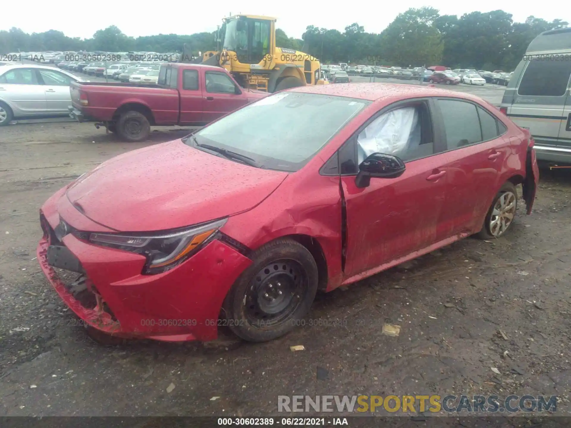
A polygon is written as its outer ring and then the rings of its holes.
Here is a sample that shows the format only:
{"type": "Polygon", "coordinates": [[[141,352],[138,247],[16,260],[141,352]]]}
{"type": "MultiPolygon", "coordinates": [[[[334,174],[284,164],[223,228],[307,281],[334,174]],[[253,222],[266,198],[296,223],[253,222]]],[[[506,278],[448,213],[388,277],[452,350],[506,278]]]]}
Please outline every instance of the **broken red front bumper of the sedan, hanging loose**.
{"type": "MultiPolygon", "coordinates": [[[[125,338],[207,341],[217,337],[224,297],[252,263],[250,259],[231,245],[213,240],[174,269],[142,274],[146,261],[142,255],[99,247],[72,233],[57,241],[53,231],[59,215],[54,212],[54,199],[40,212],[44,236],[37,247],[38,261],[55,291],[86,325],[125,338]],[[79,259],[94,305],[74,297],[70,285],[48,263],[50,244],[65,245],[79,259]]],[[[82,215],[77,212],[77,216],[82,215]]],[[[74,226],[73,219],[65,220],[74,226]]],[[[85,223],[86,217],[78,220],[85,223]]]]}

